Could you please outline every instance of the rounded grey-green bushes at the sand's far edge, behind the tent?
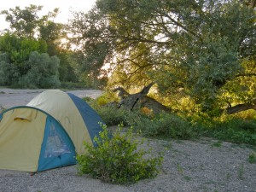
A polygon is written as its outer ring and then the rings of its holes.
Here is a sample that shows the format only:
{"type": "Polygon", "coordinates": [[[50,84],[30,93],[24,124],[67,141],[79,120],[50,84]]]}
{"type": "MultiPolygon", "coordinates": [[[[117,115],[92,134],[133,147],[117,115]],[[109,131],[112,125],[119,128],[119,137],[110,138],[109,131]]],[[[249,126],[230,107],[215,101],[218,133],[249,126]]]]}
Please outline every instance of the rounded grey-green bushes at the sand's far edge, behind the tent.
{"type": "Polygon", "coordinates": [[[58,79],[59,59],[56,56],[32,52],[26,61],[26,73],[11,63],[8,54],[0,55],[0,85],[22,88],[55,88],[60,86],[58,79]]]}

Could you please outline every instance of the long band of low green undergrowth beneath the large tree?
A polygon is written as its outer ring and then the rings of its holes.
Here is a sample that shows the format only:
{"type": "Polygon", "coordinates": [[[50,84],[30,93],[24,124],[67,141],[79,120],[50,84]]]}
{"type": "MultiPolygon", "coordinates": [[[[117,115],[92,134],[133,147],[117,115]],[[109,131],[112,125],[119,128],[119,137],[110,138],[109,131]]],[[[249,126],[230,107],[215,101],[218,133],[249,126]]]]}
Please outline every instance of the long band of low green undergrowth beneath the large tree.
{"type": "MultiPolygon", "coordinates": [[[[177,113],[145,113],[141,110],[125,110],[117,105],[101,106],[108,102],[107,96],[99,101],[90,99],[90,105],[96,109],[107,125],[132,125],[135,131],[148,137],[164,137],[176,139],[193,139],[196,137],[212,137],[231,143],[247,143],[256,145],[255,113],[247,111],[236,115],[201,113],[192,108],[185,108],[177,113]]],[[[192,103],[193,105],[193,103],[192,103]]]]}

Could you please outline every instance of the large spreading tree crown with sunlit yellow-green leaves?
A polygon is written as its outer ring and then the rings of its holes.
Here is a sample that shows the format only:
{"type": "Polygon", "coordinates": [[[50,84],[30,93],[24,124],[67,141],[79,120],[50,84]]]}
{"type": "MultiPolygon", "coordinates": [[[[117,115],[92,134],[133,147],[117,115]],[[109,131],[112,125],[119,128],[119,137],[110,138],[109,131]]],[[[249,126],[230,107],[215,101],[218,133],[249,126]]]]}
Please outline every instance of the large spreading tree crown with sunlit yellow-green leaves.
{"type": "Polygon", "coordinates": [[[236,0],[97,0],[71,26],[85,58],[93,58],[87,64],[111,63],[114,84],[154,81],[173,101],[231,109],[256,98],[254,7],[236,0]]]}

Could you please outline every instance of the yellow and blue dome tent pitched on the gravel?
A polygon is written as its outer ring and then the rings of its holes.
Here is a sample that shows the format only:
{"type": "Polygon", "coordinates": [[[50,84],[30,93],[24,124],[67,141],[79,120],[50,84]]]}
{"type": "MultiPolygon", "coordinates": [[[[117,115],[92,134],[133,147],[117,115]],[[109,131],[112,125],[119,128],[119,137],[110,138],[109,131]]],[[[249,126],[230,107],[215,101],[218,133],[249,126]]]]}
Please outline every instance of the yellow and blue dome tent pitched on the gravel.
{"type": "Polygon", "coordinates": [[[84,141],[102,127],[90,106],[61,90],[45,90],[26,106],[0,114],[0,169],[40,172],[76,164],[84,141]]]}

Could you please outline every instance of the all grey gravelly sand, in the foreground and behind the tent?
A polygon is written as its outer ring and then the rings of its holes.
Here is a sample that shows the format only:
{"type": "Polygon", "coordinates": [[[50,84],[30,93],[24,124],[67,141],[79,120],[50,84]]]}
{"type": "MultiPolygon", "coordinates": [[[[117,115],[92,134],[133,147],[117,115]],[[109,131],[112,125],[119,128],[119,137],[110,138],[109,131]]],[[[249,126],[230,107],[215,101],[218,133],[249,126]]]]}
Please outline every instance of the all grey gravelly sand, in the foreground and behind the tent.
{"type": "MultiPolygon", "coordinates": [[[[0,105],[5,108],[24,105],[42,91],[0,89],[0,105]]],[[[99,90],[71,92],[80,97],[100,94],[99,90]]],[[[0,170],[0,192],[256,192],[256,164],[247,160],[256,151],[255,147],[216,143],[218,141],[211,138],[196,141],[148,139],[148,146],[155,154],[164,152],[163,166],[154,179],[131,185],[80,177],[77,166],[67,166],[33,176],[28,172],[0,170]]]]}

